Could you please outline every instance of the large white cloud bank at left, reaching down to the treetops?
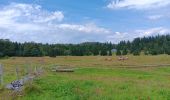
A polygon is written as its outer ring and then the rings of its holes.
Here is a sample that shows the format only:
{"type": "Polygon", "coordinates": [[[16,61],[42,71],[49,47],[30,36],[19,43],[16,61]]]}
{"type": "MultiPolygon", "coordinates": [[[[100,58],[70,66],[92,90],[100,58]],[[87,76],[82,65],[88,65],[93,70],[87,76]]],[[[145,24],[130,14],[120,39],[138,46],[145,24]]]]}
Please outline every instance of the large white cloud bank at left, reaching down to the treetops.
{"type": "Polygon", "coordinates": [[[111,31],[95,23],[64,23],[62,11],[47,11],[40,5],[12,3],[0,9],[0,38],[42,43],[106,41],[111,31]]]}

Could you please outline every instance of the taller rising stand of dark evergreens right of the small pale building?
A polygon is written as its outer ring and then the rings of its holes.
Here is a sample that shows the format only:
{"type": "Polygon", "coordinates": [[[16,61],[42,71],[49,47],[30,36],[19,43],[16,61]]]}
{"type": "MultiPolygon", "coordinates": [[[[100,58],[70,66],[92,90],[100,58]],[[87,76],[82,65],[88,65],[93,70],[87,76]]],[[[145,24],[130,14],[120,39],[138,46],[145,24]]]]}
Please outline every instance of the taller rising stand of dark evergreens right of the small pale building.
{"type": "Polygon", "coordinates": [[[121,41],[117,44],[116,55],[170,55],[170,35],[158,35],[135,38],[133,41],[121,41]]]}

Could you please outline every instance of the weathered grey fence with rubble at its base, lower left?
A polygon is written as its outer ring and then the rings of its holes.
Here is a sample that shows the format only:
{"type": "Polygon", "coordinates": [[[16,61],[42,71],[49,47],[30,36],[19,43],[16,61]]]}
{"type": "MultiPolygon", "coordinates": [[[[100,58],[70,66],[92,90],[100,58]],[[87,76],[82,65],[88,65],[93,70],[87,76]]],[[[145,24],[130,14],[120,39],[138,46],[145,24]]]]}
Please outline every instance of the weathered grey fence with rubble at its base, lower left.
{"type": "MultiPolygon", "coordinates": [[[[25,67],[25,74],[21,75],[22,70],[19,67],[15,68],[16,80],[13,80],[11,83],[5,85],[6,89],[20,91],[25,83],[33,80],[35,77],[39,76],[43,69],[42,67],[25,67]]],[[[2,64],[0,64],[0,87],[4,87],[4,70],[2,64]]]]}

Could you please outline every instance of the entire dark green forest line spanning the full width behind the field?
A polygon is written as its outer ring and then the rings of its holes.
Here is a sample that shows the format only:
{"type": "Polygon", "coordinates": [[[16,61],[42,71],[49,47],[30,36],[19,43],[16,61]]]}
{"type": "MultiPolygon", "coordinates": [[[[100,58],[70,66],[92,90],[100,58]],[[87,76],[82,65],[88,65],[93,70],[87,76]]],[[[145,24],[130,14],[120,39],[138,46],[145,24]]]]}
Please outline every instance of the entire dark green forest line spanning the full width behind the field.
{"type": "Polygon", "coordinates": [[[84,42],[80,44],[42,44],[35,42],[11,42],[0,39],[0,57],[41,57],[41,56],[111,56],[112,49],[116,55],[170,55],[170,35],[158,35],[135,38],[133,41],[121,41],[118,44],[111,42],[84,42]]]}

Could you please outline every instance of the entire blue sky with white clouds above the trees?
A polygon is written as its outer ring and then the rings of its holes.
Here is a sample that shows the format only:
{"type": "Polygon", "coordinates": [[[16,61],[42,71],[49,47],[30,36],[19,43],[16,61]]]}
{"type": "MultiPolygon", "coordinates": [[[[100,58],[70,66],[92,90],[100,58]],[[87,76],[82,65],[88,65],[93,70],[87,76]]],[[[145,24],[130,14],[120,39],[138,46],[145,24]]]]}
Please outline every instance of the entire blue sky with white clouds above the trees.
{"type": "Polygon", "coordinates": [[[0,39],[82,43],[170,34],[170,0],[0,0],[0,39]]]}

